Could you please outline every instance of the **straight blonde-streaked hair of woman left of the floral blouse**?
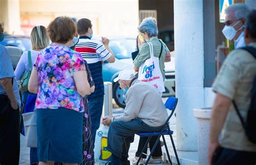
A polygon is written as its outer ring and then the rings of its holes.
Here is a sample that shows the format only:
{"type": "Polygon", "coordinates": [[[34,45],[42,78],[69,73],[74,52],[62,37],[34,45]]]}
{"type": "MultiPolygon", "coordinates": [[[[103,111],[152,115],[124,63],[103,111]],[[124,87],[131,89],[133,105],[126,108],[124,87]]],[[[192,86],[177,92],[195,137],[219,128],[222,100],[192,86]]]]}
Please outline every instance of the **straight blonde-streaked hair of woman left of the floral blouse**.
{"type": "Polygon", "coordinates": [[[31,34],[31,49],[42,49],[50,44],[47,30],[44,26],[33,27],[31,34]]]}

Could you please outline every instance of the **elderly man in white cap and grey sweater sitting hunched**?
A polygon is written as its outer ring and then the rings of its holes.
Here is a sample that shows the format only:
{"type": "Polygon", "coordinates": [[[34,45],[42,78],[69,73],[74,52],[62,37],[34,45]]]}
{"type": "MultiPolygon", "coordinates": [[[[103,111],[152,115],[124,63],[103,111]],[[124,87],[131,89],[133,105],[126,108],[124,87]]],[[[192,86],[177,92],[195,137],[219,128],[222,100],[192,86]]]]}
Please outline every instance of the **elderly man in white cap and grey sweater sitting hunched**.
{"type": "MultiPolygon", "coordinates": [[[[141,82],[129,71],[120,72],[114,82],[126,92],[126,107],[119,116],[106,116],[102,123],[110,126],[107,145],[112,152],[112,164],[130,164],[127,160],[134,134],[160,132],[168,118],[159,92],[141,82]]],[[[159,159],[159,158],[157,158],[159,159]]]]}

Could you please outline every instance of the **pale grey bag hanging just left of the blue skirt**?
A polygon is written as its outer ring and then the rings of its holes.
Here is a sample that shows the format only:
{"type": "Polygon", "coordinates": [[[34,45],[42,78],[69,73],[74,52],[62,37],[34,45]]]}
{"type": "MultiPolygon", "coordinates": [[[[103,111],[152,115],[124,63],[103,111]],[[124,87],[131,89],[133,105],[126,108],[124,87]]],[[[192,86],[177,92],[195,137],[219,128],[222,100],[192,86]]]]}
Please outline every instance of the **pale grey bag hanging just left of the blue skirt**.
{"type": "Polygon", "coordinates": [[[37,147],[36,111],[23,113],[26,146],[37,147]]]}

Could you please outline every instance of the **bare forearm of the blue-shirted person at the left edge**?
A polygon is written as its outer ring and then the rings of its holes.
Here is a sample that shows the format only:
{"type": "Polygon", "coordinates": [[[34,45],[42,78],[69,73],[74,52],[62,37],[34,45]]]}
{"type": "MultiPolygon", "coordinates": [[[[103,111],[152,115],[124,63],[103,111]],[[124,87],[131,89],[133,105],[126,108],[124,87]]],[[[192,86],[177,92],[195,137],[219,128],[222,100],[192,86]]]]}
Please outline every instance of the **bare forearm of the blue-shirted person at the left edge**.
{"type": "Polygon", "coordinates": [[[18,109],[18,104],[17,104],[16,98],[14,96],[14,90],[12,88],[11,81],[12,81],[12,78],[10,78],[10,77],[0,79],[0,82],[2,83],[2,87],[3,87],[6,95],[8,96],[8,98],[11,101],[12,109],[17,110],[18,109]]]}

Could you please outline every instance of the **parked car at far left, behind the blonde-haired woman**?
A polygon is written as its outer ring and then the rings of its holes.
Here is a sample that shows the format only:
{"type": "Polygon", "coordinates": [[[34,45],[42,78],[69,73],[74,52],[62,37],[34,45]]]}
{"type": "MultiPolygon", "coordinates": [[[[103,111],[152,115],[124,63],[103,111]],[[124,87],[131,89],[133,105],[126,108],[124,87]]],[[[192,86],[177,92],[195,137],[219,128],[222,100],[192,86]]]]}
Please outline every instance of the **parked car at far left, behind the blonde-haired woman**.
{"type": "Polygon", "coordinates": [[[8,50],[14,69],[17,66],[19,59],[24,51],[30,50],[30,37],[25,35],[10,35],[5,34],[4,40],[0,42],[8,50]]]}

